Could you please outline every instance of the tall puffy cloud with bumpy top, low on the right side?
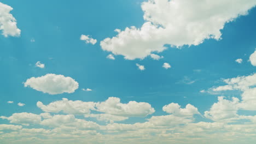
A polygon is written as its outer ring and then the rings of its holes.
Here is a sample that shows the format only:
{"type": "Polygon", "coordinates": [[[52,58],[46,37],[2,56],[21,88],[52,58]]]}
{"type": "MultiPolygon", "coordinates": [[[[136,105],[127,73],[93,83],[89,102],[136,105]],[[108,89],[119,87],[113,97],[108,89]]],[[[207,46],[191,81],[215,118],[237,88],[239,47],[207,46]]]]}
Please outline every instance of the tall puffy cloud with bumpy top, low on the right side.
{"type": "Polygon", "coordinates": [[[214,103],[210,111],[205,111],[205,117],[213,121],[222,122],[238,119],[237,110],[239,101],[237,98],[232,98],[231,101],[224,99],[224,97],[218,97],[218,103],[214,103]]]}

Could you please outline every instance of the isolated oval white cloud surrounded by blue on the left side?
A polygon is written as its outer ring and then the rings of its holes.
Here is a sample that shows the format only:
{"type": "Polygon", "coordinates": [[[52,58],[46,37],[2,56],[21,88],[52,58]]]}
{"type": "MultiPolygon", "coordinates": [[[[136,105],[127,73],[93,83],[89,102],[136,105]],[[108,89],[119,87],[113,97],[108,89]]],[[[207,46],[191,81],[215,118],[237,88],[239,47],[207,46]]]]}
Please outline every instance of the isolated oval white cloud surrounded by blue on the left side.
{"type": "Polygon", "coordinates": [[[78,82],[63,75],[46,74],[41,77],[31,77],[24,83],[37,91],[49,94],[73,93],[78,89],[78,82]]]}

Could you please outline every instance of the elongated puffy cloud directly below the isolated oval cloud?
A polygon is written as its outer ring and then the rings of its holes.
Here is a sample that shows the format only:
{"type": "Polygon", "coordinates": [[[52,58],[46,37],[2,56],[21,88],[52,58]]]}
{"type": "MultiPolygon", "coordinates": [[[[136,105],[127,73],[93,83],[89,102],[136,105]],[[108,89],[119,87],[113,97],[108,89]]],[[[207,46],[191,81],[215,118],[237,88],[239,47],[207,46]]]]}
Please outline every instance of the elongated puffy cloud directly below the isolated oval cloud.
{"type": "Polygon", "coordinates": [[[38,101],[37,106],[44,112],[64,112],[68,114],[86,114],[95,109],[94,102],[72,101],[66,98],[54,101],[49,105],[44,105],[42,102],[38,101]]]}

